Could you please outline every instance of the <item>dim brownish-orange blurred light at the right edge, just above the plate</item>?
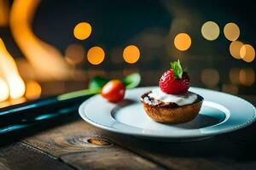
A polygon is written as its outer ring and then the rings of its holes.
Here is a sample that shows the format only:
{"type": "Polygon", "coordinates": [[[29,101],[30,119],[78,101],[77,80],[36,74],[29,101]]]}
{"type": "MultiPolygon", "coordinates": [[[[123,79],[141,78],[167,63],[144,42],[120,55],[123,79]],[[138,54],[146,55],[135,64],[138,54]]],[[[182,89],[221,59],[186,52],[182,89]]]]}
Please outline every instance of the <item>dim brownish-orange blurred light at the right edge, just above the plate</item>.
{"type": "Polygon", "coordinates": [[[255,71],[253,68],[245,68],[239,71],[239,81],[244,86],[252,86],[255,82],[255,71]]]}

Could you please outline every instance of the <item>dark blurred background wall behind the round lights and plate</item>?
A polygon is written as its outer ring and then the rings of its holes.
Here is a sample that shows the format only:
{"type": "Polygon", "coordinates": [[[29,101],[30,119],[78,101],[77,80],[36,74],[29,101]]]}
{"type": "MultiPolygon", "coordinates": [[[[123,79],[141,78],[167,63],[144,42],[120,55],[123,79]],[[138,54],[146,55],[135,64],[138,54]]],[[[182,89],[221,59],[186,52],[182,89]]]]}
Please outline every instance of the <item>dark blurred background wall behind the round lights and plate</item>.
{"type": "MultiPolygon", "coordinates": [[[[193,86],[230,94],[256,94],[255,81],[249,85],[231,81],[232,77],[239,79],[242,69],[253,70],[253,74],[247,78],[255,80],[256,64],[255,60],[246,63],[242,59],[234,59],[229,51],[230,41],[223,32],[225,24],[235,22],[241,31],[238,40],[255,48],[254,7],[253,1],[231,0],[43,0],[32,23],[33,31],[40,39],[60,49],[62,54],[72,43],[82,45],[85,53],[92,46],[101,46],[106,53],[101,65],[90,65],[86,57],[82,63],[75,65],[84,71],[84,79],[39,81],[43,95],[86,88],[88,80],[95,75],[123,77],[134,71],[142,74],[141,86],[157,85],[160,75],[169,68],[170,61],[176,59],[181,59],[183,66],[188,69],[193,86]],[[201,36],[201,26],[207,20],[215,21],[220,28],[220,35],[215,41],[207,41],[201,36]],[[84,41],[73,37],[73,27],[81,21],[89,22],[92,26],[90,37],[84,41]],[[188,33],[192,39],[191,47],[184,52],[178,51],[173,45],[174,37],[180,32],[188,33]],[[133,65],[125,63],[119,50],[129,44],[137,45],[141,52],[140,59],[133,65]],[[218,73],[218,82],[213,85],[207,83],[212,77],[216,78],[216,74],[212,76],[211,71],[204,73],[206,69],[218,73]],[[203,74],[207,77],[205,81],[202,80],[203,74]],[[61,88],[56,88],[58,85],[61,88]]],[[[9,28],[1,28],[0,36],[15,58],[23,58],[9,28]]]]}

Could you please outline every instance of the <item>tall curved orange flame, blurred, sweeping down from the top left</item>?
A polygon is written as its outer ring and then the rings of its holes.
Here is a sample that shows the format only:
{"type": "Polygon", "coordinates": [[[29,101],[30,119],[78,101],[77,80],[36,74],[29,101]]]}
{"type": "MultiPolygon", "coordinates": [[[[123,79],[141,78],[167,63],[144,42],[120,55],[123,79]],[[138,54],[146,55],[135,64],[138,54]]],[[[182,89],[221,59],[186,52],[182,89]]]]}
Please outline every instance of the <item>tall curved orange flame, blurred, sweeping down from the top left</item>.
{"type": "Polygon", "coordinates": [[[10,29],[15,42],[42,79],[63,79],[69,75],[61,53],[32,32],[32,18],[40,0],[15,0],[10,13],[10,29]]]}

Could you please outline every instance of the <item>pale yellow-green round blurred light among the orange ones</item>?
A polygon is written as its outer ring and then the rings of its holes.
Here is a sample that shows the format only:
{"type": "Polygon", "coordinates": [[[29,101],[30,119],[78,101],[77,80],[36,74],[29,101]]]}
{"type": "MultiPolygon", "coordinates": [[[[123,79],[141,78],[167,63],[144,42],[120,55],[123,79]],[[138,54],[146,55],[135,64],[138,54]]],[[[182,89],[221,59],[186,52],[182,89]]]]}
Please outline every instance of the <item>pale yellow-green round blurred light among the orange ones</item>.
{"type": "Polygon", "coordinates": [[[219,36],[219,27],[213,21],[207,21],[201,26],[201,35],[209,41],[216,40],[219,36]]]}

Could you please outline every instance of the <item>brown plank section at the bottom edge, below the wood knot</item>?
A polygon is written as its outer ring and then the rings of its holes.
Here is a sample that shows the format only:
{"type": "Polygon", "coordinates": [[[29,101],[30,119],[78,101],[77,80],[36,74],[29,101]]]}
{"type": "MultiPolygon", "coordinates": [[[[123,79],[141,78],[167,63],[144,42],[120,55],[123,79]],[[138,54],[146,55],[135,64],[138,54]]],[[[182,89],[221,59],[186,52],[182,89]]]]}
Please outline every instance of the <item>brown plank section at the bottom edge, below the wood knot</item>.
{"type": "Polygon", "coordinates": [[[120,148],[67,154],[61,156],[61,160],[78,169],[162,169],[156,164],[120,148]]]}

